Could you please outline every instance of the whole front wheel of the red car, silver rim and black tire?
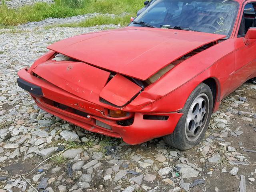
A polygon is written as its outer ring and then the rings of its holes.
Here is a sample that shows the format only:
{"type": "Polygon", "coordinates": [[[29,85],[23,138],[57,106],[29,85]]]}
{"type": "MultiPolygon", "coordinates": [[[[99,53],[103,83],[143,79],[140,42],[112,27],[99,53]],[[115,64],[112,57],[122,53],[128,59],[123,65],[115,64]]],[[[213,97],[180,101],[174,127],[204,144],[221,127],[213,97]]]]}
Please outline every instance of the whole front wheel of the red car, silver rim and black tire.
{"type": "Polygon", "coordinates": [[[190,94],[174,132],[164,136],[164,141],[170,146],[180,149],[190,149],[204,138],[209,126],[213,109],[213,96],[209,86],[198,85],[190,94]],[[199,128],[198,128],[199,127],[199,128]]]}

